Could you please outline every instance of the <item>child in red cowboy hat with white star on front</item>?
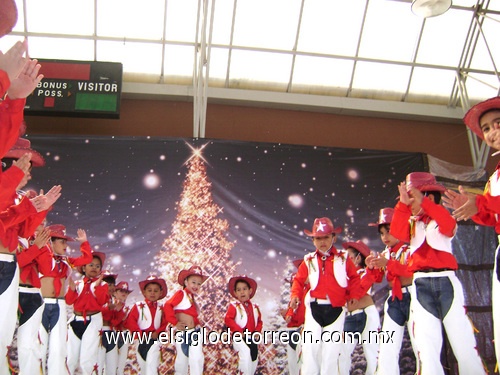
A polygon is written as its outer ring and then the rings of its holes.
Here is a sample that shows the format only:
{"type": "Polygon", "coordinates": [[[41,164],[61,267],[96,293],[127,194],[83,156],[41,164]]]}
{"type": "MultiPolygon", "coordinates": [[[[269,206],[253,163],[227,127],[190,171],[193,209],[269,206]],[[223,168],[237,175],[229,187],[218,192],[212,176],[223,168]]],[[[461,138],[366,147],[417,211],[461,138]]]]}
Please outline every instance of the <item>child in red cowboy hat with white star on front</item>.
{"type": "Polygon", "coordinates": [[[334,340],[323,342],[321,338],[325,334],[342,333],[348,296],[359,299],[366,292],[361,287],[354,263],[334,246],[341,230],[326,217],[315,219],[311,232],[304,230],[312,237],[316,250],[304,257],[297,270],[289,305],[294,310],[298,307],[308,280],[310,290],[304,298],[304,331],[308,332],[308,337],[302,343],[303,375],[338,375],[341,345],[334,340]]]}

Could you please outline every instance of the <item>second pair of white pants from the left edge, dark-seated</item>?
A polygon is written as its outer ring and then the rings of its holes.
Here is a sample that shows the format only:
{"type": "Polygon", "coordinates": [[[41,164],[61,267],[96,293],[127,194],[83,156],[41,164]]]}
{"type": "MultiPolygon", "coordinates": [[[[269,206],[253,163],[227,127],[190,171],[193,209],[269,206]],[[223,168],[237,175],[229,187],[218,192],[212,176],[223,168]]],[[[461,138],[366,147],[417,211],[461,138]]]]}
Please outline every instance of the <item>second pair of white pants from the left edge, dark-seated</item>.
{"type": "Polygon", "coordinates": [[[43,314],[40,289],[20,286],[19,304],[22,310],[17,329],[19,374],[39,374],[42,368],[42,358],[38,331],[43,314]]]}

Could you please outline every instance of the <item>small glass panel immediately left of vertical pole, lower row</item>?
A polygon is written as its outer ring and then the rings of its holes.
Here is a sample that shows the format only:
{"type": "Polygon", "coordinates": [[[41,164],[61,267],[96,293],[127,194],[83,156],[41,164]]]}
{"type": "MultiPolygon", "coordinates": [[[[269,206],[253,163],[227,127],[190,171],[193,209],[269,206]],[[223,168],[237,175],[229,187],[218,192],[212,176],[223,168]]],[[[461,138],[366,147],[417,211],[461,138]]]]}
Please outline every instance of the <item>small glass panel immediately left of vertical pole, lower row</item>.
{"type": "Polygon", "coordinates": [[[190,77],[192,82],[194,70],[194,47],[167,45],[165,46],[164,75],[169,82],[175,76],[190,77]]]}

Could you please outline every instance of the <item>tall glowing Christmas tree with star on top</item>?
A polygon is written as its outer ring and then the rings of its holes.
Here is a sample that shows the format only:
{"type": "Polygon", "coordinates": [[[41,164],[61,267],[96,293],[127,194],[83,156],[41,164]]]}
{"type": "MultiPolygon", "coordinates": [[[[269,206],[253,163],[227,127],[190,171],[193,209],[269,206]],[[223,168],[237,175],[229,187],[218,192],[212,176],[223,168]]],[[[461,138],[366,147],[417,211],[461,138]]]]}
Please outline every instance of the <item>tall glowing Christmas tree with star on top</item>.
{"type": "MultiPolygon", "coordinates": [[[[227,282],[235,274],[236,264],[230,255],[234,243],[227,240],[229,224],[219,218],[223,210],[212,199],[212,184],[201,154],[203,148],[192,148],[193,154],[186,161],[188,172],[177,202],[177,217],[156,262],[161,277],[167,281],[169,294],[181,288],[177,284],[181,270],[192,265],[202,268],[209,278],[196,296],[200,308],[199,318],[208,331],[220,332],[224,329],[224,315],[230,302],[227,282]]],[[[173,345],[162,350],[160,374],[173,373],[173,350],[173,345]]],[[[206,374],[236,372],[237,356],[229,345],[208,344],[203,351],[206,374]]]]}

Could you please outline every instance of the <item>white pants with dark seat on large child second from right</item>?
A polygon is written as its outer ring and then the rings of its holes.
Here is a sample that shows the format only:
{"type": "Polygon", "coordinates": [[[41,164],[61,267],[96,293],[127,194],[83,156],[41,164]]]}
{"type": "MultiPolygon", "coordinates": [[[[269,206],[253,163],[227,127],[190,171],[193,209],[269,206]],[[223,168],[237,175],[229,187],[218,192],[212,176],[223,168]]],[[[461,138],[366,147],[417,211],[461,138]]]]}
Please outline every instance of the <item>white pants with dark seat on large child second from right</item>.
{"type": "Polygon", "coordinates": [[[462,284],[454,271],[415,272],[410,306],[422,375],[444,374],[440,361],[443,326],[457,359],[459,373],[485,374],[472,324],[465,313],[462,284]],[[451,301],[451,305],[448,306],[446,301],[451,301]],[[434,315],[438,306],[446,310],[443,317],[434,315]]]}

